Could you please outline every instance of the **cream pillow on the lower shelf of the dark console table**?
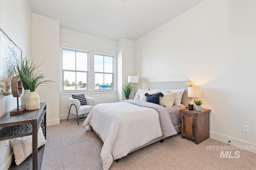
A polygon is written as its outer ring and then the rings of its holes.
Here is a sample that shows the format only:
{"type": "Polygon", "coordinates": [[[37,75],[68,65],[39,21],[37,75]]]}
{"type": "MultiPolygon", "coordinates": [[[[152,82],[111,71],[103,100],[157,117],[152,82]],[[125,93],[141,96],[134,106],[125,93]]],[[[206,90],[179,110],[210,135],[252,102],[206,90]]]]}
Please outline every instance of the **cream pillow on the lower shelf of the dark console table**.
{"type": "MultiPolygon", "coordinates": [[[[37,147],[40,148],[46,144],[42,128],[37,133],[37,147]]],[[[10,139],[13,148],[16,165],[22,163],[30,154],[32,154],[32,135],[10,139]]]]}

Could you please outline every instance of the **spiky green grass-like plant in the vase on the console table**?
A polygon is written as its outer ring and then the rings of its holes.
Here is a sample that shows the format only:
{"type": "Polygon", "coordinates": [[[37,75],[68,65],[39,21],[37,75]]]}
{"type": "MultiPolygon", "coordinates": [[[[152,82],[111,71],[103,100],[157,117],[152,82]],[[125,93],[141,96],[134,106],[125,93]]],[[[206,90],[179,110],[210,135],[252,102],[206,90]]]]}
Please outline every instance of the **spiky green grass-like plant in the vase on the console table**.
{"type": "Polygon", "coordinates": [[[30,61],[27,57],[21,62],[16,60],[15,73],[20,77],[22,86],[25,90],[29,89],[30,92],[34,92],[39,86],[47,86],[46,84],[54,82],[51,80],[44,80],[46,76],[40,73],[40,71],[37,71],[41,64],[34,64],[34,60],[32,59],[30,61]]]}

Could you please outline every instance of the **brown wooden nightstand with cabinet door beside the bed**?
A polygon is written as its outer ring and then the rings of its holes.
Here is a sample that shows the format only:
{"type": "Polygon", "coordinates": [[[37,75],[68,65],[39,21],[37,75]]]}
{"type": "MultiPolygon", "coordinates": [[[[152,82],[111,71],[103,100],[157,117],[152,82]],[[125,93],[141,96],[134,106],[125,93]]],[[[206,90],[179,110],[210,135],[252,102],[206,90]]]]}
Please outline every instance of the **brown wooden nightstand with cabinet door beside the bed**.
{"type": "Polygon", "coordinates": [[[210,137],[209,113],[211,110],[196,111],[186,108],[180,111],[182,138],[187,137],[199,144],[210,137]]]}

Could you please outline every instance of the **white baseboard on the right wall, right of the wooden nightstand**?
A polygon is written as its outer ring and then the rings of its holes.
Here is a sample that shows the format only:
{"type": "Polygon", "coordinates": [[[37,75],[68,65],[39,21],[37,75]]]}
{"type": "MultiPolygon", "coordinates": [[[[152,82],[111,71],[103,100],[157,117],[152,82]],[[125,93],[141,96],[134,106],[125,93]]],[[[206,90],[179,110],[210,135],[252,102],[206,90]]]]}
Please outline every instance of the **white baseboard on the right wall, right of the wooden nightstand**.
{"type": "Polygon", "coordinates": [[[239,139],[235,139],[232,137],[228,137],[219,133],[215,133],[210,131],[210,138],[215,139],[217,141],[221,141],[223,143],[227,143],[232,146],[242,147],[245,150],[248,150],[250,152],[256,153],[256,145],[253,143],[248,143],[246,141],[241,141],[239,139]],[[228,141],[230,141],[228,143],[228,141]]]}

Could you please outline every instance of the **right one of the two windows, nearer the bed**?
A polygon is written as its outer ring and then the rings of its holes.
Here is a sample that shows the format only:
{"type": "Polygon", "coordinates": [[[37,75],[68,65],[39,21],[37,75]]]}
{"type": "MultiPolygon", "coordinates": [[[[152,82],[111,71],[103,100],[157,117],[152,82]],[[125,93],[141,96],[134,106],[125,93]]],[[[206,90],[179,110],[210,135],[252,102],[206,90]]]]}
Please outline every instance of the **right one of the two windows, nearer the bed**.
{"type": "Polygon", "coordinates": [[[114,79],[114,57],[94,55],[95,89],[112,89],[114,79]]]}

